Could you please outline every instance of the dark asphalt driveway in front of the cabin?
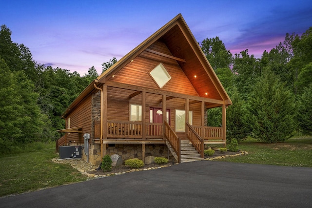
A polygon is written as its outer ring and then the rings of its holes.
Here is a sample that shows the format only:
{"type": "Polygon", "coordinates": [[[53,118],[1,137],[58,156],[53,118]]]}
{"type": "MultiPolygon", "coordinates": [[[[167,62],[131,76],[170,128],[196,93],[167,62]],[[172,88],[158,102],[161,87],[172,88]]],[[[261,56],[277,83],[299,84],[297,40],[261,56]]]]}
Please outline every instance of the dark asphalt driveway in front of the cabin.
{"type": "Polygon", "coordinates": [[[312,168],[198,161],[0,198],[3,208],[312,207],[312,168]]]}

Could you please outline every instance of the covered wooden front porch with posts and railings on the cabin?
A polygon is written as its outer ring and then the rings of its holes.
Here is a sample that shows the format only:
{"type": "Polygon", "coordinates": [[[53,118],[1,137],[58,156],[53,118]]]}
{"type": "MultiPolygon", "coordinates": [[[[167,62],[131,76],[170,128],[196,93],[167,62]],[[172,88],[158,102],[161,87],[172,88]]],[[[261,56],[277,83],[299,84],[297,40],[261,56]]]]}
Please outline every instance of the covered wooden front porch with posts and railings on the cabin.
{"type": "Polygon", "coordinates": [[[202,158],[204,144],[226,144],[227,105],[224,101],[124,83],[104,83],[100,89],[101,120],[94,122],[94,142],[101,144],[103,155],[109,144],[141,144],[143,156],[145,144],[166,144],[179,162],[180,140],[189,140],[202,158]],[[120,102],[119,107],[123,104],[123,109],[128,109],[128,112],[122,112],[126,115],[116,115],[116,110],[112,109],[115,99],[120,102]],[[131,104],[140,106],[137,121],[132,121],[131,104]],[[161,112],[167,112],[162,113],[160,122],[153,122],[152,119],[152,108],[155,106],[161,112]],[[213,107],[222,107],[221,127],[205,125],[205,111],[213,107]],[[176,109],[185,112],[183,128],[176,127],[176,109]]]}

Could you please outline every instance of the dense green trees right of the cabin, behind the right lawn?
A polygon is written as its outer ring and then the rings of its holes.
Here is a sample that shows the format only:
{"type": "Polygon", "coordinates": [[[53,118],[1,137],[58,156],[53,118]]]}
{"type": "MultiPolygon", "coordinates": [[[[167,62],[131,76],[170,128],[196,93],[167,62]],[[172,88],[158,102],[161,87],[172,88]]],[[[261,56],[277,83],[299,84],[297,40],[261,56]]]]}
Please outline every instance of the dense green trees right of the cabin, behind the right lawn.
{"type": "MultiPolygon", "coordinates": [[[[251,136],[272,143],[312,133],[312,27],[301,36],[286,34],[261,59],[226,49],[218,38],[201,48],[232,99],[227,140],[251,136]]],[[[208,125],[219,126],[221,109],[208,110],[208,125]]]]}

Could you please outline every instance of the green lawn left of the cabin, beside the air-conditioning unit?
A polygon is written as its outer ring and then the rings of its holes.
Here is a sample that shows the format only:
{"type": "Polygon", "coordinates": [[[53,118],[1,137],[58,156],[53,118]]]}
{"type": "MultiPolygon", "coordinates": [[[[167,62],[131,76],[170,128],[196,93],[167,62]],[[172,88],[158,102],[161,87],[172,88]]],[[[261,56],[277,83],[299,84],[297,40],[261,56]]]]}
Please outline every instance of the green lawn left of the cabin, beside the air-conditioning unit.
{"type": "MultiPolygon", "coordinates": [[[[42,143],[43,144],[43,143],[42,143]]],[[[85,181],[69,164],[53,163],[55,143],[40,146],[29,152],[0,156],[0,196],[34,191],[45,187],[55,187],[65,184],[85,181]]]]}

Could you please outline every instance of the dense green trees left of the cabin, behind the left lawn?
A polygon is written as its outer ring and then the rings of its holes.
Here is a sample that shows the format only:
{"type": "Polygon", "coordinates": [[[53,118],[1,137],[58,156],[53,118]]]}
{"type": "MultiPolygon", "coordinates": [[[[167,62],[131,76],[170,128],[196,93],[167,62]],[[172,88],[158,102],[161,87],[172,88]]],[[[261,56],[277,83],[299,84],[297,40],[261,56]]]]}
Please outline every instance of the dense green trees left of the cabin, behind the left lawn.
{"type": "MultiPolygon", "coordinates": [[[[62,113],[98,77],[94,66],[80,76],[76,71],[35,62],[24,44],[11,40],[6,25],[0,30],[0,152],[34,141],[59,139],[65,128],[62,113]]],[[[113,60],[103,63],[106,70],[113,60]]]]}

